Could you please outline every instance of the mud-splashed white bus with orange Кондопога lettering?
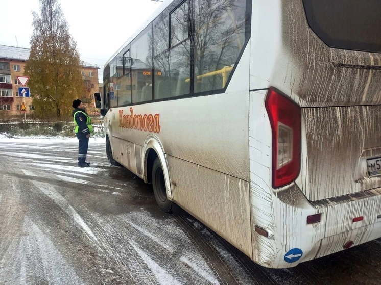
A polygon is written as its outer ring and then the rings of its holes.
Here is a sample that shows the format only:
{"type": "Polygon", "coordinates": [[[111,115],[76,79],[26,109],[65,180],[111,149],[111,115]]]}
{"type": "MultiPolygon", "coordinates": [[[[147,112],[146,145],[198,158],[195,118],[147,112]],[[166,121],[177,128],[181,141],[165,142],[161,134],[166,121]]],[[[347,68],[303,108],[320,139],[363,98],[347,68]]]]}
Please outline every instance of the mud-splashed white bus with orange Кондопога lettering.
{"type": "Polygon", "coordinates": [[[380,4],[164,1],[95,94],[109,161],[265,267],[381,237],[380,4]]]}

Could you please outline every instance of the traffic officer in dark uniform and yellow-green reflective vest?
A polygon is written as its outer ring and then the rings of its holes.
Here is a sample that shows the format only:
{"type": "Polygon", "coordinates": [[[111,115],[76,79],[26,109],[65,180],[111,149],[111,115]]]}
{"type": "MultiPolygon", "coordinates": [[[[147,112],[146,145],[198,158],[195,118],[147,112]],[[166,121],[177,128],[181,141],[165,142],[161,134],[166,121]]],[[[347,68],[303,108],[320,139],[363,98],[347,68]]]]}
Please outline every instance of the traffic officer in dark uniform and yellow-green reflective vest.
{"type": "Polygon", "coordinates": [[[89,167],[90,163],[86,162],[87,148],[89,146],[90,133],[93,132],[91,119],[85,111],[82,101],[77,99],[73,101],[73,119],[75,125],[75,133],[79,140],[78,143],[78,166],[89,167]]]}

